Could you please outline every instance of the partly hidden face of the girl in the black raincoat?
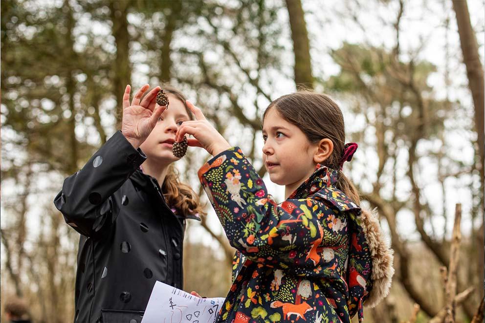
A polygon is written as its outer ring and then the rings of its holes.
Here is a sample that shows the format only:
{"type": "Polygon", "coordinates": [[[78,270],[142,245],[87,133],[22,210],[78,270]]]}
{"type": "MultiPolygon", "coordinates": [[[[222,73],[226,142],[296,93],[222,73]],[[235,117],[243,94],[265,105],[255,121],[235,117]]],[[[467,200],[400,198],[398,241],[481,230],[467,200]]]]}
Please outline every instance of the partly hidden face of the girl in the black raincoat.
{"type": "Polygon", "coordinates": [[[173,94],[167,93],[167,95],[170,100],[169,108],[163,111],[155,128],[140,146],[149,159],[163,164],[180,159],[172,153],[175,134],[182,122],[190,120],[184,104],[173,94]]]}

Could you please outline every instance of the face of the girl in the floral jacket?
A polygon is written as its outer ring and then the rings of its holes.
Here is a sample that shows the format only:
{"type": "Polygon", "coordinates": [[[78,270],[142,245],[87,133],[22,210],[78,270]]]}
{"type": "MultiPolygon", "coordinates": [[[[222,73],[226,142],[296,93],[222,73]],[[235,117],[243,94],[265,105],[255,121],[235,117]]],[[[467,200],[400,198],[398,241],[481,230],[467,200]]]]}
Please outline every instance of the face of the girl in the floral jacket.
{"type": "Polygon", "coordinates": [[[296,189],[314,172],[318,144],[310,143],[305,133],[283,119],[276,108],[266,113],[263,139],[263,162],[273,183],[296,189]]]}

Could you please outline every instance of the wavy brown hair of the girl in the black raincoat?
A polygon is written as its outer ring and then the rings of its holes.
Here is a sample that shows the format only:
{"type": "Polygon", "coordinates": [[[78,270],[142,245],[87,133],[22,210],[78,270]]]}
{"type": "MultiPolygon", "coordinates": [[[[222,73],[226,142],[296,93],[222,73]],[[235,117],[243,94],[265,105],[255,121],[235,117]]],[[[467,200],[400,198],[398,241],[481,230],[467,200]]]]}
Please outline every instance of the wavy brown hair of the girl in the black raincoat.
{"type": "MultiPolygon", "coordinates": [[[[163,84],[160,87],[164,92],[170,93],[180,100],[183,103],[190,120],[194,120],[194,115],[190,111],[189,107],[187,107],[187,104],[185,103],[187,99],[182,92],[180,92],[174,86],[168,84],[163,84]]],[[[204,215],[204,207],[200,204],[198,194],[196,194],[189,185],[181,183],[178,176],[178,172],[176,171],[174,165],[170,165],[161,187],[165,198],[167,199],[167,203],[170,205],[170,207],[175,208],[178,212],[180,212],[181,215],[204,215]]]]}

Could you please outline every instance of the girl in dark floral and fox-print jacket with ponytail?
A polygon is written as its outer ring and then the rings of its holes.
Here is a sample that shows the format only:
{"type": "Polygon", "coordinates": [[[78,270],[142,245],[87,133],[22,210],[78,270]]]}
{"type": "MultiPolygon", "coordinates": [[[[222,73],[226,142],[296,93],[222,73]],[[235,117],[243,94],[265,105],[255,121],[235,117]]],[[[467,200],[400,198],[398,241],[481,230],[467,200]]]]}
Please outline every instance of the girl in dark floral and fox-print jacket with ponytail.
{"type": "Polygon", "coordinates": [[[360,208],[343,174],[357,145],[344,145],[340,108],[326,95],[297,92],[273,101],[263,116],[263,161],[285,185],[278,204],[243,151],[231,147],[188,103],[189,145],[214,158],[198,171],[231,245],[233,284],[219,322],[351,322],[363,305],[389,291],[392,250],[375,215],[360,208]]]}

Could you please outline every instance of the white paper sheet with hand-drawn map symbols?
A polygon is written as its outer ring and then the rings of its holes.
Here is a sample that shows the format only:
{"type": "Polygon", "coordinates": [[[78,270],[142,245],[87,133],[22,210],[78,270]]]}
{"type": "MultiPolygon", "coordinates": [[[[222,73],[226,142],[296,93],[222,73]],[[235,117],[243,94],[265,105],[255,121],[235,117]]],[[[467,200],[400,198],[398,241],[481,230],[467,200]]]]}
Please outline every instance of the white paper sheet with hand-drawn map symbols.
{"type": "Polygon", "coordinates": [[[156,281],[141,323],[214,323],[223,298],[201,299],[156,281]]]}

